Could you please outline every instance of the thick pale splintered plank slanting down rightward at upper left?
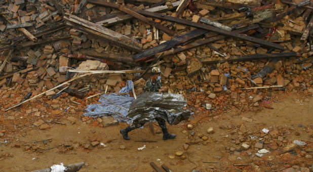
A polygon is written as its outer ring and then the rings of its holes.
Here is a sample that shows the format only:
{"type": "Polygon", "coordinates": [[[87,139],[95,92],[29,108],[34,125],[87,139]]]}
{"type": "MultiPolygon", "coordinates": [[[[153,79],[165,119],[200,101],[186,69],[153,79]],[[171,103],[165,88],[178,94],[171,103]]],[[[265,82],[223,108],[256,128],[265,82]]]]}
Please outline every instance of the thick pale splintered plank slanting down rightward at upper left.
{"type": "Polygon", "coordinates": [[[74,15],[70,15],[68,17],[64,16],[64,19],[69,21],[66,24],[71,25],[73,27],[79,27],[79,29],[85,30],[89,33],[101,36],[108,41],[111,41],[113,44],[122,46],[124,48],[130,49],[135,52],[141,52],[141,48],[139,47],[139,43],[135,39],[131,39],[124,34],[119,32],[115,32],[88,20],[79,18],[74,15]],[[73,23],[73,24],[71,24],[73,23]]]}

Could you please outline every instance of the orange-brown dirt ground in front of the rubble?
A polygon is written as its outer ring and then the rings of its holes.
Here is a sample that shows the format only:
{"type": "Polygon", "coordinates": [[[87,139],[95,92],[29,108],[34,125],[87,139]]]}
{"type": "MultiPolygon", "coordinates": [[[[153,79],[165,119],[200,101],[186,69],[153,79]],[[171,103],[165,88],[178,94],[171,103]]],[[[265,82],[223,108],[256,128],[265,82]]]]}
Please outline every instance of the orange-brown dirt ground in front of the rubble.
{"type": "MultiPolygon", "coordinates": [[[[8,144],[0,144],[0,171],[30,171],[60,162],[70,164],[81,161],[86,162],[86,165],[80,171],[152,171],[150,162],[160,167],[164,163],[173,171],[282,171],[292,166],[294,169],[310,168],[312,97],[292,93],[276,95],[276,100],[280,102],[273,103],[273,109],[265,108],[257,112],[242,112],[237,115],[240,110],[231,109],[210,118],[194,115],[191,121],[169,126],[169,132],[175,133],[177,137],[167,141],[162,140],[162,134],[156,125],[154,130],[157,134],[154,136],[146,125],[142,130],[132,131],[129,134],[131,140],[125,141],[119,133],[126,126],[124,123],[103,128],[93,126],[94,121],[83,122],[82,116],[78,114],[74,124],[64,116],[61,122],[65,124],[54,123],[47,130],[28,126],[12,133],[7,131],[2,139],[7,139],[8,144]],[[243,120],[243,117],[252,121],[243,120]],[[186,129],[189,123],[195,125],[192,130],[186,129]],[[208,134],[207,129],[211,126],[215,133],[208,134]],[[281,138],[264,134],[262,128],[267,128],[270,132],[278,130],[281,138]],[[192,132],[194,136],[190,135],[192,132]],[[208,140],[200,139],[201,134],[207,136],[208,140]],[[255,156],[257,148],[254,148],[255,141],[250,137],[252,135],[263,137],[263,148],[270,152],[262,157],[255,156]],[[30,150],[25,150],[27,148],[23,146],[27,142],[45,139],[51,140],[45,144],[32,143],[31,149],[28,148],[30,150]],[[95,140],[106,146],[89,146],[85,149],[86,144],[95,140]],[[157,142],[136,142],[142,140],[157,142]],[[294,151],[280,155],[294,140],[301,140],[307,145],[294,147],[294,151]],[[276,148],[273,142],[279,146],[276,148]],[[184,150],[185,143],[190,145],[187,150],[184,150]],[[250,148],[242,149],[242,143],[247,143],[250,148]],[[125,149],[121,149],[121,145],[125,149]],[[145,149],[137,149],[144,145],[145,149]],[[58,147],[53,148],[55,146],[58,147]],[[41,151],[48,148],[53,149],[41,151]],[[184,155],[175,156],[180,150],[184,155]]],[[[12,121],[11,124],[13,123],[12,121]]]]}

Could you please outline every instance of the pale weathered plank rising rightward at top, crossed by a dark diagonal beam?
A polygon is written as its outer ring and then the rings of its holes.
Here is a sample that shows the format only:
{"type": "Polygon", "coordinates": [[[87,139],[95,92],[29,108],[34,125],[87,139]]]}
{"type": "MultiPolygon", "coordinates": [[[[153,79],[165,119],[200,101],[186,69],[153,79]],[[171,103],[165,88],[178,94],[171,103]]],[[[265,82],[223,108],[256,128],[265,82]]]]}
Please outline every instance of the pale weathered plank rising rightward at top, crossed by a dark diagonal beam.
{"type": "MultiPolygon", "coordinates": [[[[180,1],[176,1],[176,2],[172,3],[173,8],[178,7],[179,3],[180,3],[180,1]]],[[[160,13],[160,12],[171,10],[173,8],[169,8],[168,6],[165,5],[165,6],[152,7],[152,8],[146,9],[146,11],[159,12],[160,13]]],[[[105,16],[108,16],[108,15],[105,15],[105,16]]],[[[133,16],[131,16],[131,15],[116,16],[116,17],[104,19],[102,21],[97,22],[96,24],[112,25],[112,24],[116,24],[119,22],[130,20],[131,18],[133,18],[133,16]]]]}

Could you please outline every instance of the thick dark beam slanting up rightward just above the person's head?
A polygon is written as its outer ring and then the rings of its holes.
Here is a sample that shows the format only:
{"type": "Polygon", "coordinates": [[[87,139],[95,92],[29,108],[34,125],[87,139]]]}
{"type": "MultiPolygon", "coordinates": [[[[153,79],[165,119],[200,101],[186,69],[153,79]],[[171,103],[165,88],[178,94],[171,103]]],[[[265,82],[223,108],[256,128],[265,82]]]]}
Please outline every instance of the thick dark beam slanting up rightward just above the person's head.
{"type": "Polygon", "coordinates": [[[164,42],[163,44],[160,44],[159,46],[155,46],[151,49],[148,49],[144,52],[135,54],[133,56],[135,61],[141,61],[141,60],[145,60],[148,57],[154,56],[156,53],[160,53],[166,50],[171,49],[172,47],[178,45],[178,44],[182,44],[183,42],[186,42],[190,39],[193,39],[195,37],[201,36],[204,33],[208,32],[207,30],[203,30],[203,29],[194,29],[191,30],[183,35],[179,35],[176,36],[175,38],[164,42]]]}

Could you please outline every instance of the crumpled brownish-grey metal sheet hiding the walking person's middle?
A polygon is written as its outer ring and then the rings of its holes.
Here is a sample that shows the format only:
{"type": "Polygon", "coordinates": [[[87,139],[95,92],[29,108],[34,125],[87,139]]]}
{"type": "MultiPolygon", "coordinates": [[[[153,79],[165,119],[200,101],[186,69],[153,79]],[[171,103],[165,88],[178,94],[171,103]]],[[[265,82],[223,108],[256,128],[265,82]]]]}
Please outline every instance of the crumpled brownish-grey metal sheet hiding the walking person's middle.
{"type": "Polygon", "coordinates": [[[127,118],[132,119],[131,126],[142,126],[163,118],[170,125],[177,124],[190,117],[189,110],[183,110],[187,102],[180,94],[142,93],[131,104],[127,118]]]}

